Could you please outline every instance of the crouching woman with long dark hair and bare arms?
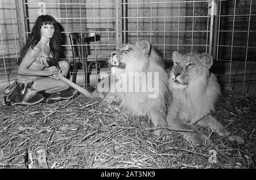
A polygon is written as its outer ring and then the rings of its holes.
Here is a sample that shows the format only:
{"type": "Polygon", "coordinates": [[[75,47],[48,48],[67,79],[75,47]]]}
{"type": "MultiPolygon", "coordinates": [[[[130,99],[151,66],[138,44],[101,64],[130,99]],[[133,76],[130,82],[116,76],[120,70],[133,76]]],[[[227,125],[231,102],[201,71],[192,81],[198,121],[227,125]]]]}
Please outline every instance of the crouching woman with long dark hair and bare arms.
{"type": "Polygon", "coordinates": [[[18,77],[5,91],[7,105],[33,105],[75,97],[76,92],[65,91],[69,86],[59,79],[60,72],[63,76],[68,75],[69,62],[58,61],[60,71],[47,63],[48,57],[59,60],[60,42],[60,29],[55,18],[40,15],[22,49],[18,77]],[[46,95],[51,96],[47,98],[46,95]]]}

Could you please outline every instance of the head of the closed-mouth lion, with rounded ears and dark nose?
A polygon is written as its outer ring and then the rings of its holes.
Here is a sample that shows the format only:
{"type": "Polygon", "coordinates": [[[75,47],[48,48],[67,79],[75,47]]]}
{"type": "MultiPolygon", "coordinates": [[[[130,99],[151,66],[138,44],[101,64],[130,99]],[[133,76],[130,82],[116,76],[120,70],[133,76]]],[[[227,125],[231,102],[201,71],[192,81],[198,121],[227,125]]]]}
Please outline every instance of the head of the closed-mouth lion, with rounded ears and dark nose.
{"type": "Polygon", "coordinates": [[[172,87],[176,89],[185,89],[200,77],[208,77],[213,61],[207,53],[180,55],[177,52],[174,52],[172,60],[174,66],[171,70],[170,81],[172,81],[172,87]],[[203,76],[204,73],[207,76],[203,76]]]}

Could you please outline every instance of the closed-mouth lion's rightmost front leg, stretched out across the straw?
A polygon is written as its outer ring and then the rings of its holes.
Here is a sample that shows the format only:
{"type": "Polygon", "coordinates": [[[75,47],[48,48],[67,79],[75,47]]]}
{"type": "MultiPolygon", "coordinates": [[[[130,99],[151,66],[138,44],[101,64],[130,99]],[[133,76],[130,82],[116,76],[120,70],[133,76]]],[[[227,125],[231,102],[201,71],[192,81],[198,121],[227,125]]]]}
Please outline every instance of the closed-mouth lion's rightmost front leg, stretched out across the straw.
{"type": "Polygon", "coordinates": [[[216,120],[212,115],[207,115],[203,119],[197,122],[199,125],[203,125],[204,127],[209,127],[212,131],[217,132],[220,136],[228,136],[230,141],[237,141],[238,143],[244,143],[242,137],[231,135],[231,133],[216,120]]]}

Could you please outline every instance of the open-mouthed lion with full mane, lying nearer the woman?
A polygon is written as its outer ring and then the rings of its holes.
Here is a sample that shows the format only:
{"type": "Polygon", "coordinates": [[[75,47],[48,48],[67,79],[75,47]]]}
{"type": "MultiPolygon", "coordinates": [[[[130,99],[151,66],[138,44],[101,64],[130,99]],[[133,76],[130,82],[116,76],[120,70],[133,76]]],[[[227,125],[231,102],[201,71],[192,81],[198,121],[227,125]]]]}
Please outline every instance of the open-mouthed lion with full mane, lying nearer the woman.
{"type": "Polygon", "coordinates": [[[167,127],[166,99],[168,74],[163,60],[151,49],[148,41],[127,44],[111,52],[112,74],[98,83],[93,92],[108,103],[119,103],[119,112],[131,115],[147,115],[160,135],[167,127]],[[150,87],[154,85],[154,90],[150,87]]]}

